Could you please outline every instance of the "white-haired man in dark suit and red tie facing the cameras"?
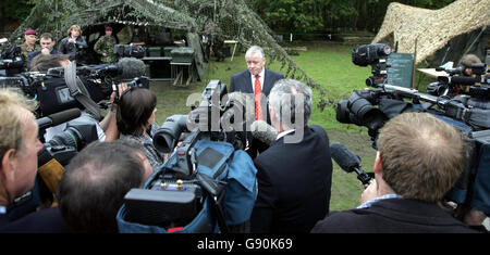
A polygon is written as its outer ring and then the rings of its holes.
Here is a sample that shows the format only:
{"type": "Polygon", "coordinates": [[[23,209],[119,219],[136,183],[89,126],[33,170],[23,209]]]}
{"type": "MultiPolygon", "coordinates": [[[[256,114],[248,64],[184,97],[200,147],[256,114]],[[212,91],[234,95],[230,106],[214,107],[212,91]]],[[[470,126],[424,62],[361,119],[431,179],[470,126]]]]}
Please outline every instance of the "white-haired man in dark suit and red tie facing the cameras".
{"type": "MultiPolygon", "coordinates": [[[[270,124],[268,115],[267,98],[274,82],[284,78],[282,74],[266,68],[266,55],[262,48],[258,46],[250,47],[245,53],[247,69],[231,77],[230,92],[242,92],[254,97],[255,100],[255,119],[267,119],[270,124]]],[[[248,141],[252,143],[248,154],[255,158],[257,152],[264,152],[268,146],[264,142],[248,135],[248,141]]]]}

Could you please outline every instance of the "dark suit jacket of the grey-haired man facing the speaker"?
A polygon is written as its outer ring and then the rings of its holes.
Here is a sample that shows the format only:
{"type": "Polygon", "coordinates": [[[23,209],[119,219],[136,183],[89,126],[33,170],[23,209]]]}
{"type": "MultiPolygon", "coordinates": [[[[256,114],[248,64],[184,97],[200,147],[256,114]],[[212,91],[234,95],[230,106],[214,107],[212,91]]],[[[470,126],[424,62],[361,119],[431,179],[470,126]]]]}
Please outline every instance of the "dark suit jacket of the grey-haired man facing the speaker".
{"type": "Polygon", "coordinates": [[[332,160],[329,138],[321,127],[304,129],[298,143],[286,135],[259,154],[258,195],[252,232],[309,232],[329,212],[332,160]]]}

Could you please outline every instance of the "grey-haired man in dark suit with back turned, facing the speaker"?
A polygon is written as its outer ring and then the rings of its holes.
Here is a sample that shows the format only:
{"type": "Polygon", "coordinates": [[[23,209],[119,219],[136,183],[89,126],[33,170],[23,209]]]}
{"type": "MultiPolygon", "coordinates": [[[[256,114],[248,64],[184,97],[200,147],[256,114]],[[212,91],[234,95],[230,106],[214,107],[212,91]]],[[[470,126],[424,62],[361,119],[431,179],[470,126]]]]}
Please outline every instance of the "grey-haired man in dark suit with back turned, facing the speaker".
{"type": "Polygon", "coordinates": [[[252,232],[309,232],[329,212],[332,161],[323,128],[307,126],[311,90],[281,79],[269,97],[278,139],[257,156],[258,195],[252,232]]]}

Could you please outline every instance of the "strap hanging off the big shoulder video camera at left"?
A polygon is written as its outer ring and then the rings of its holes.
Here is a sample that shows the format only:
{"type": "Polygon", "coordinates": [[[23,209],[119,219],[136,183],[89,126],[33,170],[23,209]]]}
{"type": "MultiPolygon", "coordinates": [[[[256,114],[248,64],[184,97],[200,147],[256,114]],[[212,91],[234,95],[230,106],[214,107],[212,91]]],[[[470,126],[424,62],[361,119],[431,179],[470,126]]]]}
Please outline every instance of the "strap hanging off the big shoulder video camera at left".
{"type": "Polygon", "coordinates": [[[76,76],[75,62],[71,62],[64,67],[64,81],[66,82],[72,97],[84,105],[86,111],[94,116],[95,119],[100,120],[100,107],[90,99],[87,88],[85,88],[85,85],[78,76],[76,76]]]}

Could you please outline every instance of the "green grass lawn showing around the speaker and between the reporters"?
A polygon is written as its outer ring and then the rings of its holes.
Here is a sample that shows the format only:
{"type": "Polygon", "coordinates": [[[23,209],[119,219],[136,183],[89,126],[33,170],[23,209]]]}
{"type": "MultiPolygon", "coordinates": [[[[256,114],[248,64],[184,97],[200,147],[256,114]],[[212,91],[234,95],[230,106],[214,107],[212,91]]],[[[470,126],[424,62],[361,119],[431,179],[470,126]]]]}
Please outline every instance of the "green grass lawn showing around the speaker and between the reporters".
{"type": "MultiPolygon", "coordinates": [[[[299,52],[299,55],[293,55],[292,59],[336,101],[347,98],[353,90],[366,87],[365,80],[370,76],[370,67],[359,67],[352,63],[351,52],[353,47],[327,43],[296,46],[306,46],[308,50],[299,52]]],[[[268,65],[270,69],[285,73],[286,69],[281,71],[280,67],[281,63],[279,62],[268,65]]],[[[189,87],[181,88],[162,82],[152,82],[151,90],[158,97],[157,123],[161,125],[168,116],[173,114],[187,114],[189,112],[189,107],[185,105],[187,95],[201,93],[210,79],[220,79],[221,82],[229,85],[231,76],[245,68],[244,53],[237,52],[233,62],[230,58],[225,59],[224,62],[211,62],[203,80],[192,84],[189,87]]],[[[327,129],[330,142],[345,144],[360,156],[364,169],[370,171],[376,152],[371,148],[366,128],[340,124],[335,119],[335,111],[332,107],[326,107],[321,112],[317,107],[317,103],[318,92],[314,90],[315,109],[309,124],[320,125],[327,129]]],[[[336,164],[333,165],[330,209],[348,209],[357,206],[362,193],[360,182],[356,179],[355,174],[346,174],[336,164]]]]}

